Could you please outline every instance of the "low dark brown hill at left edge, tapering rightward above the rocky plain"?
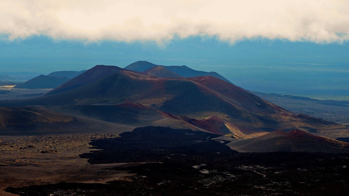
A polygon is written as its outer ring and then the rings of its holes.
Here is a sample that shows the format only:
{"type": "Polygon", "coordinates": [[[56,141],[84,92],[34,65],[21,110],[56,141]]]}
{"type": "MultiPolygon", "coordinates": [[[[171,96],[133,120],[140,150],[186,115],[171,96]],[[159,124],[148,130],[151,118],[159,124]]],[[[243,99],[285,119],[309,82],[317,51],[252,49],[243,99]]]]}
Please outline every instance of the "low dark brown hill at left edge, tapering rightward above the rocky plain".
{"type": "Polygon", "coordinates": [[[66,115],[43,107],[0,107],[0,135],[122,133],[134,127],[66,115]]]}

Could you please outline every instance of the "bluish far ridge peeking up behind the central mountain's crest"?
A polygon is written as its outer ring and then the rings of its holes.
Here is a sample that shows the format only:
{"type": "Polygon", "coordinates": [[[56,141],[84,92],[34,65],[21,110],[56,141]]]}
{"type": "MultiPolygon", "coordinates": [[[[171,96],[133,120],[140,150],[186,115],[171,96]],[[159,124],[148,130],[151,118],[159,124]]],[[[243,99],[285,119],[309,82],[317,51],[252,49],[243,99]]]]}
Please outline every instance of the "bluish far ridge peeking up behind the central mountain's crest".
{"type": "MultiPolygon", "coordinates": [[[[148,62],[148,61],[137,61],[134,63],[131,63],[130,65],[126,66],[125,69],[134,70],[134,71],[146,71],[147,69],[158,67],[159,65],[155,65],[154,63],[148,62]]],[[[185,65],[183,66],[162,66],[180,76],[183,77],[196,77],[196,76],[213,76],[216,78],[219,78],[221,80],[224,80],[226,82],[231,83],[229,80],[224,78],[223,76],[217,74],[214,71],[206,72],[206,71],[197,71],[194,69],[191,69],[185,65]]]]}

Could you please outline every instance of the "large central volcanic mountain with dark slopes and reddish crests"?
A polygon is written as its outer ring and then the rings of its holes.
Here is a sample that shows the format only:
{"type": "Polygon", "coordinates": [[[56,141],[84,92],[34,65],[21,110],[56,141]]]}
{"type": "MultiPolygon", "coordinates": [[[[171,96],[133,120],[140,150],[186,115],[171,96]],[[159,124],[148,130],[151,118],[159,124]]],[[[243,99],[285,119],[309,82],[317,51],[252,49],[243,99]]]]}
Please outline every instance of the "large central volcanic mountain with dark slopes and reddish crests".
{"type": "MultiPolygon", "coordinates": [[[[0,105],[110,105],[129,100],[170,115],[166,119],[172,119],[171,122],[177,120],[213,133],[243,138],[279,129],[343,127],[330,121],[293,114],[212,76],[158,78],[115,66],[96,66],[51,92],[54,93],[38,98],[0,101],[0,105]]],[[[84,113],[88,114],[91,109],[86,110],[84,113]]],[[[96,111],[103,113],[104,110],[96,111]]]]}

